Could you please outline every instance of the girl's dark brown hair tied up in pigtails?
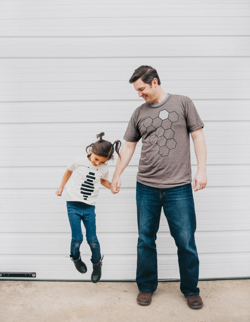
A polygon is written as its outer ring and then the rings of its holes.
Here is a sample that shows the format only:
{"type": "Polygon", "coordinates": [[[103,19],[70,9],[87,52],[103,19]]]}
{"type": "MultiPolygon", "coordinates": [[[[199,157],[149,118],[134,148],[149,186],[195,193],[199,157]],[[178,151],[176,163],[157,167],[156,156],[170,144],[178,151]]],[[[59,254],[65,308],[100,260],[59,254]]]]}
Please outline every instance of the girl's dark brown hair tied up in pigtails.
{"type": "Polygon", "coordinates": [[[86,152],[88,153],[88,156],[91,155],[91,148],[92,148],[92,152],[94,154],[96,154],[97,156],[103,156],[104,158],[108,158],[108,160],[114,159],[113,153],[114,153],[114,151],[116,151],[116,153],[118,154],[118,156],[121,160],[121,156],[119,153],[119,149],[122,145],[121,141],[116,140],[112,144],[109,141],[103,140],[103,138],[102,138],[103,136],[104,136],[104,132],[97,134],[96,137],[99,140],[96,141],[95,143],[91,143],[90,145],[88,145],[88,147],[86,147],[86,152]]]}

